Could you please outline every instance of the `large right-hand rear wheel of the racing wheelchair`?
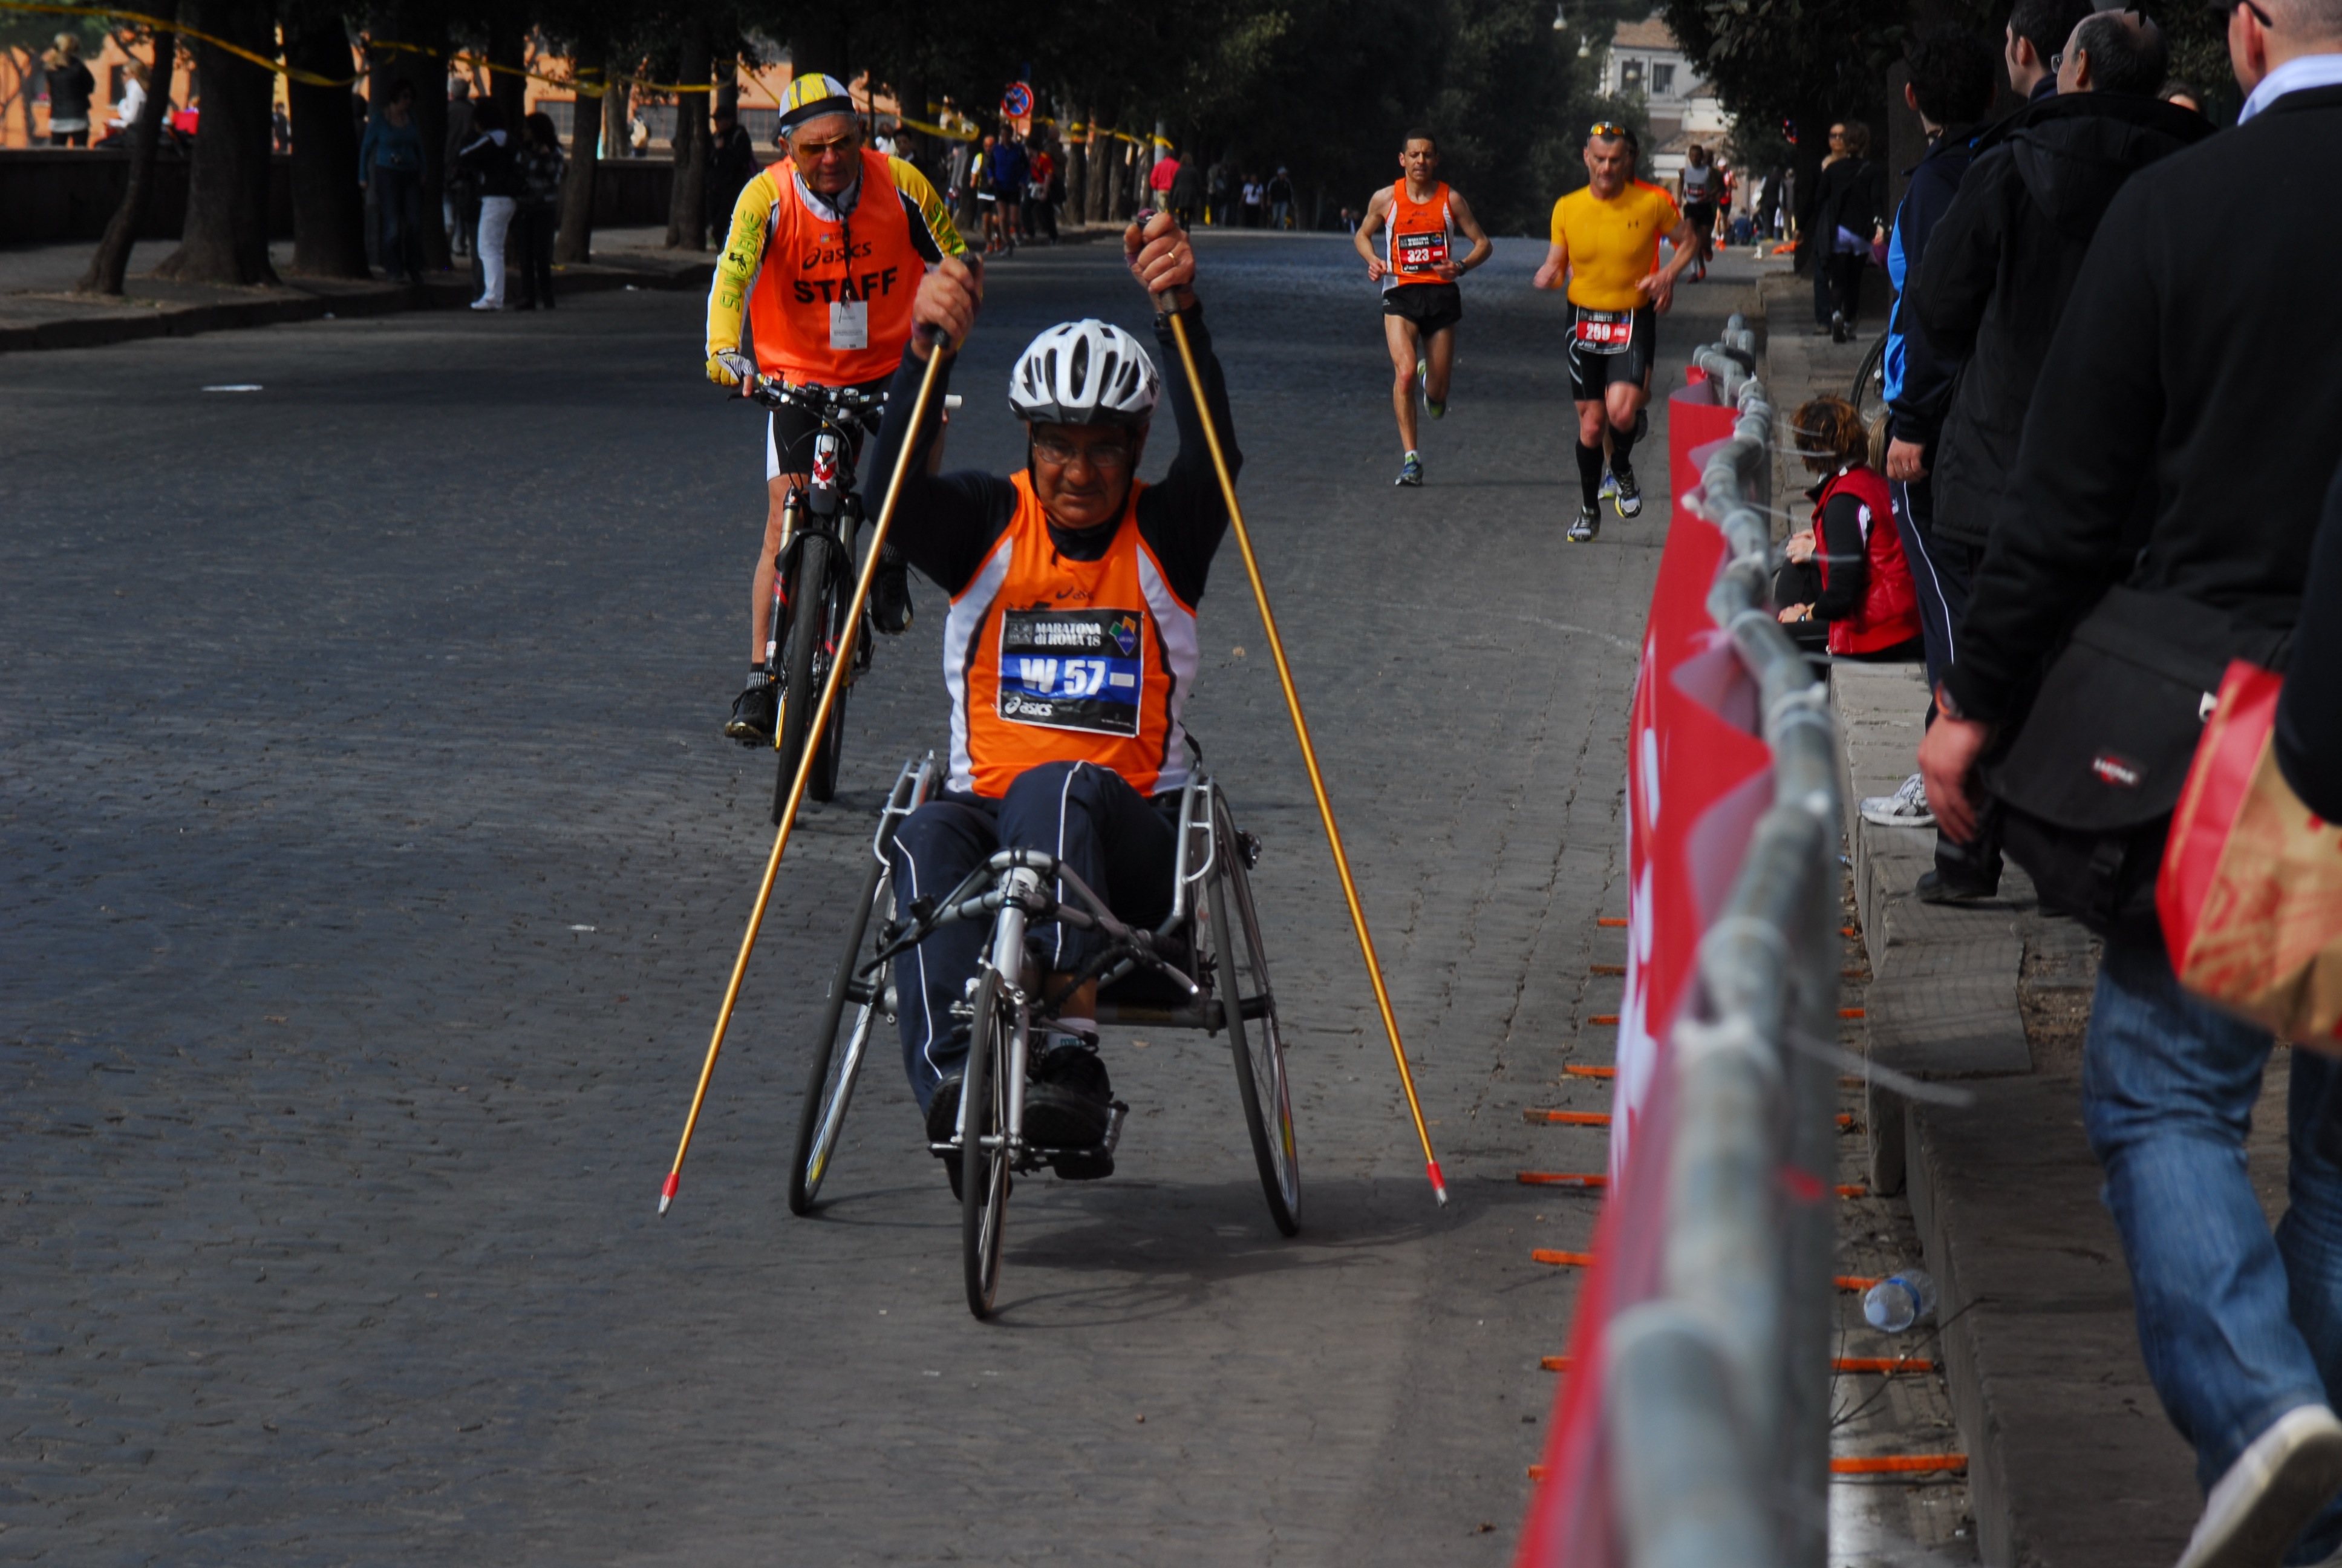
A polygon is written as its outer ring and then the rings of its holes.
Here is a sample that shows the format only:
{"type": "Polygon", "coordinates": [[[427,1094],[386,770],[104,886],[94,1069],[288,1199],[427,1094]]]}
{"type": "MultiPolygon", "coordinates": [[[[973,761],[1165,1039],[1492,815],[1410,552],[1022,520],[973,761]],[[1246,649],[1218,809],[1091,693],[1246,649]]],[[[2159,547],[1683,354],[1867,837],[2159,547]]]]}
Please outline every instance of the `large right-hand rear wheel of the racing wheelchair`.
{"type": "Polygon", "coordinates": [[[1260,1167],[1260,1193],[1269,1200],[1269,1219],[1286,1235],[1302,1228],[1302,1163],[1293,1139],[1293,1092],[1286,1083],[1286,1043],[1276,1031],[1276,991],[1269,989],[1269,959],[1260,942],[1260,914],[1253,909],[1253,881],[1244,870],[1237,825],[1227,802],[1213,795],[1213,837],[1218,865],[1208,884],[1213,989],[1227,1020],[1227,1048],[1237,1057],[1237,1097],[1244,1102],[1244,1130],[1253,1137],[1253,1163],[1260,1167]],[[1237,923],[1230,923],[1230,914],[1237,923]]]}

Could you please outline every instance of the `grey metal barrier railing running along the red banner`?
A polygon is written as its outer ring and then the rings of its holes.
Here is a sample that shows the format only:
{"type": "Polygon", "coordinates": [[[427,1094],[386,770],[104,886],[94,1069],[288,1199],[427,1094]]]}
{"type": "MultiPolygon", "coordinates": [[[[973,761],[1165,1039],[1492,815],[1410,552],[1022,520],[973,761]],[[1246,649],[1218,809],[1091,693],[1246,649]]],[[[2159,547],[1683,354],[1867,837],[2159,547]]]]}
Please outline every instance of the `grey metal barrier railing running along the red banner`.
{"type": "Polygon", "coordinates": [[[1700,940],[1675,1027],[1660,1289],[1609,1331],[1611,1500],[1635,1568],[1820,1568],[1838,1008],[1838,764],[1827,687],[1773,616],[1773,405],[1733,316],[1696,363],[1740,410],[1696,513],[1731,558],[1707,609],[1756,680],[1773,806],[1700,940]]]}

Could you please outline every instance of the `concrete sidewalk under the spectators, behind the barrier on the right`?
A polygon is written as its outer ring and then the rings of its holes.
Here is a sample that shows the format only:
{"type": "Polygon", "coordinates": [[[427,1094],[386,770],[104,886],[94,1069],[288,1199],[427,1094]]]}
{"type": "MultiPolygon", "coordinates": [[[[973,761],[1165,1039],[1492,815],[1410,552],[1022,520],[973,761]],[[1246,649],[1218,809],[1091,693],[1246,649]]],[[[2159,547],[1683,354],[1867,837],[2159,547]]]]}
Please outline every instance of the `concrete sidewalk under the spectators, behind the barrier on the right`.
{"type": "MultiPolygon", "coordinates": [[[[1853,345],[1810,328],[1799,279],[1766,288],[1768,389],[1794,410],[1845,396],[1883,330],[1853,345]]],[[[1782,457],[1775,495],[1806,476],[1782,457]]],[[[1789,511],[1803,518],[1806,506],[1789,511]]],[[[1787,527],[1787,520],[1778,520],[1787,527]]],[[[1916,766],[1927,710],[1918,666],[1831,666],[1845,755],[1845,837],[1871,961],[1871,1059],[1956,1080],[1967,1106],[1869,1090],[1874,1191],[1911,1193],[1942,1301],[1942,1362],[1970,1455],[1977,1547],[1991,1568],[2131,1568],[2176,1561],[2201,1509],[2194,1453],[2162,1411],[2138,1352],[2122,1242],[2098,1202],[2082,1134],[2082,1034],[2096,940],[2045,914],[2009,865],[2000,898],[1923,905],[1934,832],[1874,827],[1867,795],[1916,766]]],[[[2283,1212],[2283,1052],[2248,1144],[2253,1186],[2283,1212]]]]}

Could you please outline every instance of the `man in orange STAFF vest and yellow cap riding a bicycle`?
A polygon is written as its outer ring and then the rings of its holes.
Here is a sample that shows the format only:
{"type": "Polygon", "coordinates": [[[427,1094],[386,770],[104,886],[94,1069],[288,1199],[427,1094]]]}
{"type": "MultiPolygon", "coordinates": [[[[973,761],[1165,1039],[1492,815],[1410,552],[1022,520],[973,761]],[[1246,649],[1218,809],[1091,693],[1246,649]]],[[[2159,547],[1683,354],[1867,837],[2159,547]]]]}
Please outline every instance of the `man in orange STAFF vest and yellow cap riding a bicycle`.
{"type": "MultiPolygon", "coordinates": [[[[780,105],[789,155],[740,192],[731,237],[707,291],[707,380],[738,387],[763,373],[785,382],[878,391],[911,338],[911,295],[927,267],[967,246],[918,169],[862,145],[845,84],[829,75],[789,82],[780,105]],[[773,265],[766,265],[766,263],[773,265]],[[740,349],[747,316],[754,359],[740,349]]],[[[806,483],[813,415],[775,410],[763,434],[763,551],[749,593],[747,687],[724,734],[771,745],[780,694],[766,675],[775,635],[773,558],[782,502],[806,483]]],[[[871,619],[883,633],[911,626],[911,588],[899,560],[871,581],[871,619]]]]}

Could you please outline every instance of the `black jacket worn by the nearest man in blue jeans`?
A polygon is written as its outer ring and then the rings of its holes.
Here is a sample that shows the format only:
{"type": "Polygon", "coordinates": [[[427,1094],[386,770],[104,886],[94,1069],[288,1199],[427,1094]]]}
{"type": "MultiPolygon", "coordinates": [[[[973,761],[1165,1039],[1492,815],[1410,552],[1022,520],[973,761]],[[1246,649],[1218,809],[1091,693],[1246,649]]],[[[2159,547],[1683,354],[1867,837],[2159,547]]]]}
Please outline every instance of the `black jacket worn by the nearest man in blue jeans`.
{"type": "Polygon", "coordinates": [[[2316,87],[2115,197],[2049,342],[1944,675],[1963,713],[2009,717],[2110,579],[2246,626],[2302,619],[2342,450],[2342,377],[2319,370],[2342,342],[2342,291],[2305,265],[2342,253],[2337,166],[2342,87],[2316,87]]]}

